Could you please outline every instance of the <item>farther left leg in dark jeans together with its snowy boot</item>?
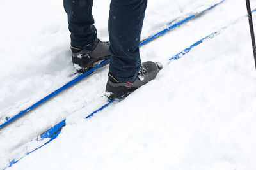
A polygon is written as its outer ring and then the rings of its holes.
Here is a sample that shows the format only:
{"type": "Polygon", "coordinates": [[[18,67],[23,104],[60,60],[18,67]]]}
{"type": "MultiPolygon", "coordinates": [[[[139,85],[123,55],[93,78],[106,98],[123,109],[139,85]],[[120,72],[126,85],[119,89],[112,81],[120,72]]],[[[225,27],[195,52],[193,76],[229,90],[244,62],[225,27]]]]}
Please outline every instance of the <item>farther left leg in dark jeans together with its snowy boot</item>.
{"type": "Polygon", "coordinates": [[[109,43],[99,41],[92,16],[93,0],[64,0],[71,32],[71,51],[74,68],[85,73],[100,60],[109,59],[109,43]]]}

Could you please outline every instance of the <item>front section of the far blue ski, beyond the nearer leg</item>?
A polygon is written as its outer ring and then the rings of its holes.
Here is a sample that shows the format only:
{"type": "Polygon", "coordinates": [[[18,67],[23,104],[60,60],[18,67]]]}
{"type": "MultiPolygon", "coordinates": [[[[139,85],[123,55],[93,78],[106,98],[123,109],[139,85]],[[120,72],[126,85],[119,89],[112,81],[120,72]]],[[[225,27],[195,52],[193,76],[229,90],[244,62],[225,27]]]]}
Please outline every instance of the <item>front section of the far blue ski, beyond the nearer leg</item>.
{"type": "Polygon", "coordinates": [[[215,6],[217,6],[218,4],[223,3],[224,0],[220,1],[220,3],[214,4],[212,6],[210,6],[209,8],[205,9],[204,11],[200,11],[199,13],[193,13],[191,15],[189,15],[188,17],[183,18],[182,20],[179,20],[177,22],[174,22],[175,24],[172,24],[173,22],[170,22],[168,25],[170,25],[169,27],[167,27],[166,29],[163,29],[160,32],[157,32],[156,34],[154,34],[154,36],[151,36],[147,39],[145,39],[144,41],[141,42],[140,46],[145,45],[146,43],[148,43],[149,41],[152,41],[153,39],[158,38],[159,36],[161,36],[162,34],[164,34],[165,32],[168,32],[170,30],[172,30],[175,27],[178,27],[179,25],[183,24],[184,22],[197,17],[199,15],[201,15],[202,13],[204,13],[205,11],[211,10],[212,8],[214,8],[215,6]]]}

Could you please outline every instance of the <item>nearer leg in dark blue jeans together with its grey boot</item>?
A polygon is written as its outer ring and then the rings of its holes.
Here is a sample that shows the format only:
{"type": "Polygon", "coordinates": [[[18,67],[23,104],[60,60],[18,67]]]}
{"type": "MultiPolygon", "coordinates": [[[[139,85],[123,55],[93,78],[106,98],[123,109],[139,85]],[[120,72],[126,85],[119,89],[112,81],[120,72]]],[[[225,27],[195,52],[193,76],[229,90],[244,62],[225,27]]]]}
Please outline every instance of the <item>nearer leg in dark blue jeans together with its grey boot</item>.
{"type": "Polygon", "coordinates": [[[140,34],[147,0],[111,0],[109,40],[111,53],[106,96],[113,100],[128,96],[156,78],[163,68],[158,62],[141,64],[140,34]]]}

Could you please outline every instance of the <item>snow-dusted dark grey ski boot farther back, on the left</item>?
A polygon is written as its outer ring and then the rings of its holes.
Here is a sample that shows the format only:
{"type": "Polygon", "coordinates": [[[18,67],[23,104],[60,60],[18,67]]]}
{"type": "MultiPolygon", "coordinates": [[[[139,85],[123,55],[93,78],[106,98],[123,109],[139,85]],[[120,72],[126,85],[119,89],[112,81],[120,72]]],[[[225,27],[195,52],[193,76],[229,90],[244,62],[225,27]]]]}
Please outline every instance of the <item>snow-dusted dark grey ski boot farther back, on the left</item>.
{"type": "MultiPolygon", "coordinates": [[[[81,50],[70,47],[72,50],[72,61],[78,73],[85,73],[103,60],[110,59],[109,42],[98,41],[93,50],[81,50]]],[[[108,63],[106,63],[108,64],[108,63]]]]}

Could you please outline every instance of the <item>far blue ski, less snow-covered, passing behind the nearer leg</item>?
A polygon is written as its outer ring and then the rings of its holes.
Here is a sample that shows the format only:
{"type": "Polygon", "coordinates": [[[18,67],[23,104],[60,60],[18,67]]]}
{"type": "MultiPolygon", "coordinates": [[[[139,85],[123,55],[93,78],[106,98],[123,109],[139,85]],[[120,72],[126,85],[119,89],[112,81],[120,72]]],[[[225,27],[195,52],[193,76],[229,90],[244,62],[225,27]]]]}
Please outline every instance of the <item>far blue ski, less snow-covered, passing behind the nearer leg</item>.
{"type": "MultiPolygon", "coordinates": [[[[192,18],[195,18],[195,17],[198,17],[198,16],[202,15],[203,13],[205,13],[205,11],[211,10],[212,8],[217,6],[218,4],[223,3],[223,1],[225,1],[225,0],[221,0],[220,2],[218,2],[216,4],[212,4],[211,6],[205,8],[202,11],[190,13],[190,14],[186,15],[186,17],[182,17],[182,18],[179,18],[177,20],[173,20],[172,22],[169,22],[168,24],[166,24],[166,27],[163,30],[161,30],[161,31],[157,32],[156,34],[154,34],[152,36],[149,36],[148,38],[141,41],[139,46],[143,46],[143,45],[147,44],[148,42],[158,38],[161,35],[163,35],[164,33],[174,29],[175,27],[178,27],[179,25],[184,24],[185,22],[188,22],[188,20],[191,20],[192,18]]],[[[28,113],[29,111],[35,109],[37,106],[40,106],[40,104],[45,103],[46,101],[48,101],[52,97],[56,96],[57,94],[59,94],[63,90],[68,89],[68,87],[71,87],[72,85],[76,84],[77,82],[83,80],[84,78],[86,78],[90,74],[94,73],[95,71],[97,71],[101,67],[106,66],[108,63],[109,63],[109,59],[104,60],[104,62],[101,62],[98,66],[95,66],[92,69],[90,69],[89,71],[87,71],[86,73],[77,76],[76,78],[69,81],[68,83],[66,83],[65,85],[60,87],[59,89],[52,92],[51,94],[49,94],[49,95],[45,96],[44,98],[40,99],[40,101],[37,101],[35,104],[32,104],[31,106],[29,106],[29,108],[26,108],[25,110],[20,111],[19,113],[17,113],[13,117],[1,118],[1,120],[0,120],[0,129],[5,127],[6,125],[10,124],[11,122],[16,120],[17,118],[21,117],[22,115],[24,115],[24,114],[28,113]]]]}

